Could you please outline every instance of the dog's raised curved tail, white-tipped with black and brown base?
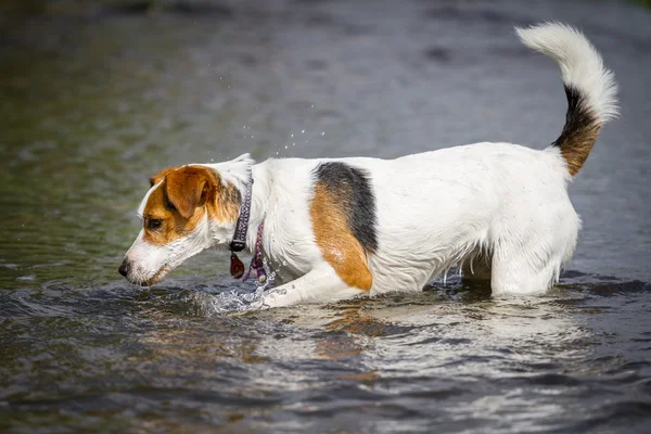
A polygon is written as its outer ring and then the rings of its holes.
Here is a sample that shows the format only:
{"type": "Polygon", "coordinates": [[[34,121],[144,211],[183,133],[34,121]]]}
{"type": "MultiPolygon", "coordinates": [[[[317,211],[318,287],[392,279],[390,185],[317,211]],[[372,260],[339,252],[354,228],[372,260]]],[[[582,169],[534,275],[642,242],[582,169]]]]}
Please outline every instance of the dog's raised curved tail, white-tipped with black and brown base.
{"type": "Polygon", "coordinates": [[[567,114],[561,136],[552,143],[561,149],[571,176],[584,165],[599,129],[617,116],[617,85],[601,56],[577,29],[560,23],[515,28],[520,40],[557,61],[567,95],[567,114]]]}

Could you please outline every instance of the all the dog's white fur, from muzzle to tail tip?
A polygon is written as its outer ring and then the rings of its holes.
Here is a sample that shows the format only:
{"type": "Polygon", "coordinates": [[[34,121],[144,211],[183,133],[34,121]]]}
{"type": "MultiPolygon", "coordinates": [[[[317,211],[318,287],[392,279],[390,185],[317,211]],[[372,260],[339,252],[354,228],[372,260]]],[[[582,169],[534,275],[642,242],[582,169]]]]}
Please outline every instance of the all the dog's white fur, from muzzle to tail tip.
{"type": "MultiPolygon", "coordinates": [[[[518,35],[560,63],[565,84],[583,92],[600,120],[616,114],[612,73],[583,35],[560,24],[518,29],[518,35]]],[[[576,246],[580,220],[567,196],[566,163],[554,146],[537,151],[485,142],[392,161],[285,158],[260,164],[244,154],[206,164],[240,189],[250,177],[254,180],[247,245],[255,245],[264,219],[263,248],[280,284],[267,293],[264,305],[365,293],[337,277],[315,242],[309,214],[314,173],[331,161],[366,171],[375,196],[379,247],[368,258],[370,295],[421,291],[455,265],[471,278],[490,279],[494,294],[537,294],[558,280],[576,246]]],[[[206,219],[188,239],[155,248],[139,237],[127,257],[146,280],[161,267],[173,268],[203,248],[226,245],[233,229],[233,224],[206,219]]]]}

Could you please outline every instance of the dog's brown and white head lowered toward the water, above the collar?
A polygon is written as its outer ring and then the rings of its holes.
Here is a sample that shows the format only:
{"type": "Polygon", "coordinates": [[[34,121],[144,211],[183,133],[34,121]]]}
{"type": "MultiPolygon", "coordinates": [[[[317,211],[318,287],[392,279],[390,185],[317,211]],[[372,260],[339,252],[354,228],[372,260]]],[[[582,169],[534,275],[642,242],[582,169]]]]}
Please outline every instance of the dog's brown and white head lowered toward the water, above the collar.
{"type": "Polygon", "coordinates": [[[169,167],[150,178],[138,208],[142,229],[119,273],[152,285],[189,257],[230,242],[252,164],[244,154],[227,163],[169,167]]]}

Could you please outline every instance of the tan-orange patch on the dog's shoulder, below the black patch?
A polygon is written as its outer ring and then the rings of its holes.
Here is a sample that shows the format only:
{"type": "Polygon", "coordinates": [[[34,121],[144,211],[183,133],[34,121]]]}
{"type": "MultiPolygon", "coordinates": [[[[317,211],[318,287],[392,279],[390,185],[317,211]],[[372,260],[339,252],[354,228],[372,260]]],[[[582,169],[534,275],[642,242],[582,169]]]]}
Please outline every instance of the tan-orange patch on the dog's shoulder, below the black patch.
{"type": "Polygon", "coordinates": [[[366,253],[346,221],[346,209],[337,192],[315,183],[310,207],[315,240],[323,258],[348,286],[370,291],[373,276],[366,253]]]}

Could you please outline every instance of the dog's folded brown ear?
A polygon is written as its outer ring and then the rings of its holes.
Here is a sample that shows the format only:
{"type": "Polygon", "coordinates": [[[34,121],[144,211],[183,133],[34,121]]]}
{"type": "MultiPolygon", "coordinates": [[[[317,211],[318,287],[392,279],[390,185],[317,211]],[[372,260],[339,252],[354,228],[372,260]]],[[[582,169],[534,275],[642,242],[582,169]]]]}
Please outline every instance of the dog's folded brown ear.
{"type": "Polygon", "coordinates": [[[217,189],[209,169],[199,166],[186,166],[168,174],[165,186],[167,200],[183,218],[192,217],[197,207],[215,196],[217,189]]]}

